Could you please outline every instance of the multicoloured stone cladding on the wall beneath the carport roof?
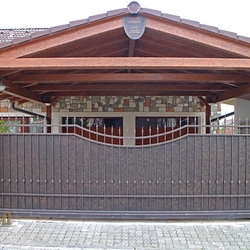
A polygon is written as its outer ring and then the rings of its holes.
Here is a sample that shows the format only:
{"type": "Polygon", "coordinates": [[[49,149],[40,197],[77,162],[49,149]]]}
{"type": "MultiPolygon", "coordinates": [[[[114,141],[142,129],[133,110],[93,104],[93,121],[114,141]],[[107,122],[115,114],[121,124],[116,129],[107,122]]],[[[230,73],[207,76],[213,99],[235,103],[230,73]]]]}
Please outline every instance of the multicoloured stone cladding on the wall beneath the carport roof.
{"type": "MultiPolygon", "coordinates": [[[[16,105],[33,112],[44,112],[37,103],[16,105]]],[[[11,112],[8,101],[0,102],[0,112],[11,112]]],[[[192,96],[71,96],[60,98],[53,112],[205,112],[204,105],[192,96]]],[[[220,104],[213,104],[211,116],[220,113],[220,104]]]]}

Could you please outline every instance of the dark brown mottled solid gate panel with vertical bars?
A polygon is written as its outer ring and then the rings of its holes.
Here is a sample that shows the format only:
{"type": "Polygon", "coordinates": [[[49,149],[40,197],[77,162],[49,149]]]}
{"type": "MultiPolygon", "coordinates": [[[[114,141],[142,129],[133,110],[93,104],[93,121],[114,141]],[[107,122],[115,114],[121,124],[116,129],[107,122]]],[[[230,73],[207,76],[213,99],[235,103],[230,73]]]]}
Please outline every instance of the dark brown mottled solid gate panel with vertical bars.
{"type": "Polygon", "coordinates": [[[73,134],[0,135],[0,210],[112,218],[249,217],[248,135],[115,146],[73,134]]]}

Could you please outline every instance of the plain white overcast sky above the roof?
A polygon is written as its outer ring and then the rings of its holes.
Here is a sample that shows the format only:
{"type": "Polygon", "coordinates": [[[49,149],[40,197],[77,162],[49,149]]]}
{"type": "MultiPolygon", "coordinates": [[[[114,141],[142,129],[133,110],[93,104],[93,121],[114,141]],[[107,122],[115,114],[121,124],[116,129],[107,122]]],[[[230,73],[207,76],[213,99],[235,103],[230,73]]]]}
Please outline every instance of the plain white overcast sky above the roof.
{"type": "MultiPolygon", "coordinates": [[[[49,28],[109,10],[130,0],[0,0],[0,28],[49,28]]],[[[142,8],[250,37],[250,0],[138,0],[142,8]]]]}

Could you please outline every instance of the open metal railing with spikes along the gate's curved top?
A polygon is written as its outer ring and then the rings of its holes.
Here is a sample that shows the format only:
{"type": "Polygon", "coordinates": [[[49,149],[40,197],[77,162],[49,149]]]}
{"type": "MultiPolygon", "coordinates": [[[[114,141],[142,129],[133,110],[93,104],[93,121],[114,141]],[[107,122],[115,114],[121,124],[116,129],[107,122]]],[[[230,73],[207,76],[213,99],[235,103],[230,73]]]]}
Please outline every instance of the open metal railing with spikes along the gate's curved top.
{"type": "Polygon", "coordinates": [[[91,141],[112,145],[151,145],[160,144],[166,141],[173,141],[187,134],[250,134],[250,121],[240,120],[239,125],[235,125],[234,121],[224,120],[223,122],[213,122],[211,125],[184,125],[175,127],[156,126],[156,127],[140,127],[131,133],[123,127],[106,127],[92,126],[83,127],[76,124],[46,124],[45,120],[39,120],[38,123],[31,123],[27,119],[21,121],[0,119],[1,133],[29,133],[29,134],[45,134],[45,133],[66,133],[77,134],[91,141]],[[25,123],[26,122],[26,123],[25,123]],[[209,133],[207,133],[209,131],[209,133]]]}

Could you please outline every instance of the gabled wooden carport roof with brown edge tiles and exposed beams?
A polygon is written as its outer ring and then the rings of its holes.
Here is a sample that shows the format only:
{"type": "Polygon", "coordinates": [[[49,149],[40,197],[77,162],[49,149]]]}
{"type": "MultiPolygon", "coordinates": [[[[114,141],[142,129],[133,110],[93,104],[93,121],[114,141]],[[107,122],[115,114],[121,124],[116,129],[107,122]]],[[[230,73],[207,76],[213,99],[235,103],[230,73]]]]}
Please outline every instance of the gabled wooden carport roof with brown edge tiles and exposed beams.
{"type": "Polygon", "coordinates": [[[141,8],[146,28],[133,40],[124,31],[127,15],[127,8],[109,11],[0,43],[8,86],[0,100],[193,95],[217,102],[250,93],[250,38],[141,8]]]}

